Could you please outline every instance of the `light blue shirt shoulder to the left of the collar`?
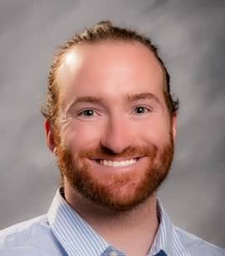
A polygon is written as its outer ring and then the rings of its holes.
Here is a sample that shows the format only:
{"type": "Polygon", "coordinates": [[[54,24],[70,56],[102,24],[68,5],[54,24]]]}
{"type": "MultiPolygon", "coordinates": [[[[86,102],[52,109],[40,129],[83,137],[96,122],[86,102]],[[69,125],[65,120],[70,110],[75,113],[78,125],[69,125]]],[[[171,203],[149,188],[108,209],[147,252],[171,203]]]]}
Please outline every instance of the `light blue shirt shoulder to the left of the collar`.
{"type": "Polygon", "coordinates": [[[46,214],[0,231],[0,256],[32,255],[51,247],[54,238],[46,214]]]}

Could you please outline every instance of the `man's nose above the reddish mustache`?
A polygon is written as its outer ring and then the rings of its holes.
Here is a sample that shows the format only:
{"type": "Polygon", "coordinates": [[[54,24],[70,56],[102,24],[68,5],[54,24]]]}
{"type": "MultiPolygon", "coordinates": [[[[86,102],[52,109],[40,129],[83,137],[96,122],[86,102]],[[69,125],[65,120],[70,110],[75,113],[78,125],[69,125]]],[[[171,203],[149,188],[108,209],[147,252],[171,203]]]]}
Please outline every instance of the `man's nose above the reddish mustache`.
{"type": "Polygon", "coordinates": [[[115,154],[120,154],[132,145],[133,140],[129,121],[114,117],[106,123],[100,144],[115,154]]]}

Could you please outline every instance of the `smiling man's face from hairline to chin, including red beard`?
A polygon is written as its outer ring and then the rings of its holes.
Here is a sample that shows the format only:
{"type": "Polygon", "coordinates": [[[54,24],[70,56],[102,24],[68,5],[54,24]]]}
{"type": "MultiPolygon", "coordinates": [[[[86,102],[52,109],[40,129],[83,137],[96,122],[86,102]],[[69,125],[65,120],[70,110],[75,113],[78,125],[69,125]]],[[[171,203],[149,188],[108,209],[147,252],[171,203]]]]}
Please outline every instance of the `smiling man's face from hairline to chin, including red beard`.
{"type": "Polygon", "coordinates": [[[56,155],[64,179],[95,204],[133,208],[165,179],[175,121],[164,100],[164,72],[137,42],[83,45],[57,73],[56,155]]]}

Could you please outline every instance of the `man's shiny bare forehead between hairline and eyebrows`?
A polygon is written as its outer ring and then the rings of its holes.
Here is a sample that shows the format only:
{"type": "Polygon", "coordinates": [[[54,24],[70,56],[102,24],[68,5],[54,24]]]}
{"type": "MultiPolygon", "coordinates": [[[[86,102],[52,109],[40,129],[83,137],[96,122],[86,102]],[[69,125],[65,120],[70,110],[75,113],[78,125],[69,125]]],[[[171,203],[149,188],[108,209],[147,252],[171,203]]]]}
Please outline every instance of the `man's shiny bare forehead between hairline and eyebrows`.
{"type": "Polygon", "coordinates": [[[165,76],[149,48],[139,42],[98,42],[76,46],[57,71],[65,100],[76,96],[123,96],[162,92],[165,76]]]}

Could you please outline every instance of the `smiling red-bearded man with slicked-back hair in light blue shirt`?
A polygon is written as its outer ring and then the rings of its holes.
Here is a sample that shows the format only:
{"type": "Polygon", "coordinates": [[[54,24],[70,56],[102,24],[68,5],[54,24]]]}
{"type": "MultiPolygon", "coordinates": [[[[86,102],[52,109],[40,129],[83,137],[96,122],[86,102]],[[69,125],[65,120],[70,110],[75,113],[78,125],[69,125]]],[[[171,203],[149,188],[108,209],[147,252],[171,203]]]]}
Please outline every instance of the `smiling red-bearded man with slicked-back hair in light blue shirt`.
{"type": "Polygon", "coordinates": [[[0,255],[225,255],[174,227],[157,199],[179,102],[149,38],[100,22],[56,53],[46,141],[61,170],[47,214],[1,232],[0,255]]]}

